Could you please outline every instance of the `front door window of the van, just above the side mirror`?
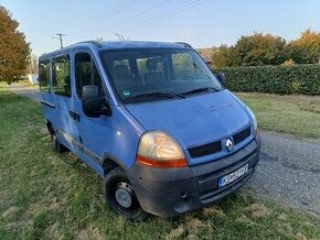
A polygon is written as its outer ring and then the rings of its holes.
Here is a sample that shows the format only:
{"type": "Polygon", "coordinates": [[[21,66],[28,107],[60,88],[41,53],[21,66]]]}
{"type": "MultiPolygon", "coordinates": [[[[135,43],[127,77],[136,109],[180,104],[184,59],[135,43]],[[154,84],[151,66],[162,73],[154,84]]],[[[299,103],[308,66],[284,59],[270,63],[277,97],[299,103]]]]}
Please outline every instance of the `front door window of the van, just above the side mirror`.
{"type": "Polygon", "coordinates": [[[75,83],[76,92],[79,98],[82,98],[83,87],[88,85],[96,85],[99,88],[100,96],[104,95],[100,75],[88,53],[75,55],[75,83]]]}

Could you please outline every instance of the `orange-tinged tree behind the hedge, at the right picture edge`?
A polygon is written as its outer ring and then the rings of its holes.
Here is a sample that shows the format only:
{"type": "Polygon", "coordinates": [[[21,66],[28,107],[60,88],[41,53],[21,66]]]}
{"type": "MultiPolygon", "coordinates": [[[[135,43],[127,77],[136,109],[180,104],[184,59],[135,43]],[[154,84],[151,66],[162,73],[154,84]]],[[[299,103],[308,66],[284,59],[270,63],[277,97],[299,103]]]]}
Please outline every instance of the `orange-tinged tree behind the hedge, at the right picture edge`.
{"type": "Polygon", "coordinates": [[[320,61],[320,33],[310,29],[288,45],[290,57],[297,64],[317,64],[320,61]]]}

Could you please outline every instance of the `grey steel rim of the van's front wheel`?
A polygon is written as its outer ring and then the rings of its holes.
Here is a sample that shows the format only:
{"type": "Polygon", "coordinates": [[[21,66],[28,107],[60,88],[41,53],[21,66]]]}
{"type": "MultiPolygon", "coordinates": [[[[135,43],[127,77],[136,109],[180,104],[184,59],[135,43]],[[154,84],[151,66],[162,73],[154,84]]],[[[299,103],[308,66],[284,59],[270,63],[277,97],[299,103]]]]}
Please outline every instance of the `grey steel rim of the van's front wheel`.
{"type": "Polygon", "coordinates": [[[113,196],[116,206],[122,211],[135,212],[140,209],[137,196],[129,183],[116,183],[113,188],[113,196]]]}

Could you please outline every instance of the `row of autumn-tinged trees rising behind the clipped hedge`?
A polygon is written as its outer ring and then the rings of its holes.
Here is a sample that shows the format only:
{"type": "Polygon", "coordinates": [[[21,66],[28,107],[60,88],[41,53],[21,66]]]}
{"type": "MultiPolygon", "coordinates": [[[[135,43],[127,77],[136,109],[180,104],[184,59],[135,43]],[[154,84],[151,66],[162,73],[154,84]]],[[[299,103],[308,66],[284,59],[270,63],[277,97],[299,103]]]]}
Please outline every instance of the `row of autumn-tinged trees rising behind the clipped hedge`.
{"type": "Polygon", "coordinates": [[[213,47],[214,67],[294,65],[320,63],[320,32],[308,29],[297,40],[271,34],[241,36],[234,45],[213,47]]]}

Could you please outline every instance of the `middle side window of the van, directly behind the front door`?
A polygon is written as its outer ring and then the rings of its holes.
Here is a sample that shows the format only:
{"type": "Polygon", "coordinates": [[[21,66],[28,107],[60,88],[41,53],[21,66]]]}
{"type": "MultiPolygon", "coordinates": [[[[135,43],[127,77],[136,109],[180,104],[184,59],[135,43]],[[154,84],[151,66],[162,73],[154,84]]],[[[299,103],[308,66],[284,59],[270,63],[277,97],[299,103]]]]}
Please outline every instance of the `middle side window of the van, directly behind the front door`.
{"type": "Polygon", "coordinates": [[[52,81],[56,95],[71,97],[70,56],[58,56],[53,59],[52,81]]]}

